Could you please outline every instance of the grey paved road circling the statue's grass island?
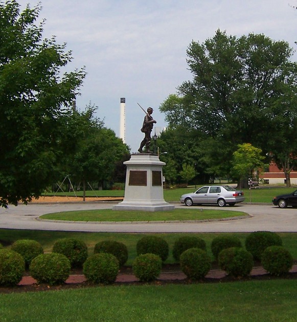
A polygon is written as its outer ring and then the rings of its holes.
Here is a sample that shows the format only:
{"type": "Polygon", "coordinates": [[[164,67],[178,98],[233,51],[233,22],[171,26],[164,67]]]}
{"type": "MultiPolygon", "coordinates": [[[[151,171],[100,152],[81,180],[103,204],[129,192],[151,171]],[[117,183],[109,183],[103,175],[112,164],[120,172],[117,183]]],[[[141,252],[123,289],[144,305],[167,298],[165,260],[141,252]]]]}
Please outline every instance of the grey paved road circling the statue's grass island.
{"type": "MultiPolygon", "coordinates": [[[[82,210],[82,209],[110,209],[117,203],[90,202],[68,204],[31,204],[10,206],[0,209],[0,228],[36,229],[54,231],[81,232],[252,232],[259,230],[275,232],[297,232],[297,210],[293,208],[280,209],[273,205],[240,204],[224,209],[244,211],[250,218],[212,221],[212,222],[180,222],[180,223],[115,223],[98,224],[96,222],[49,222],[36,220],[45,213],[82,210]]],[[[186,206],[176,204],[176,208],[186,206]]],[[[193,207],[193,209],[219,209],[218,207],[193,207]]]]}

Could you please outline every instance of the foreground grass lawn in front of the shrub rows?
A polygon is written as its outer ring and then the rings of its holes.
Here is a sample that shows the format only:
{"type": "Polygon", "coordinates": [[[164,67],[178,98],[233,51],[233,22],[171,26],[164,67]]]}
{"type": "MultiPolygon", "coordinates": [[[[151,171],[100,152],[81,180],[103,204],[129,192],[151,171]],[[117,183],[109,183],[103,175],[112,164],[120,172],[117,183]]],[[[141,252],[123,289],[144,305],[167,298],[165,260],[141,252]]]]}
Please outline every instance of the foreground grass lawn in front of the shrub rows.
{"type": "Polygon", "coordinates": [[[0,294],[1,321],[293,322],[297,280],[0,294]]]}

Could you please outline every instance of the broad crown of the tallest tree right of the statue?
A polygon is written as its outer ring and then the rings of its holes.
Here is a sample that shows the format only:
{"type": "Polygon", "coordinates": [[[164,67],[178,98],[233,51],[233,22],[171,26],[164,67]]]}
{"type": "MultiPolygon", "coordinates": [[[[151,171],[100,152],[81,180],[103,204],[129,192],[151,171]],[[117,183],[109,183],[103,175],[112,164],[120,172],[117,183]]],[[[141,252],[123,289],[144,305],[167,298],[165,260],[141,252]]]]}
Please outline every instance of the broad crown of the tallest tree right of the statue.
{"type": "Polygon", "coordinates": [[[179,89],[193,97],[193,124],[235,145],[265,147],[272,131],[271,104],[292,55],[288,43],[218,30],[204,44],[193,41],[187,55],[194,79],[179,89]]]}

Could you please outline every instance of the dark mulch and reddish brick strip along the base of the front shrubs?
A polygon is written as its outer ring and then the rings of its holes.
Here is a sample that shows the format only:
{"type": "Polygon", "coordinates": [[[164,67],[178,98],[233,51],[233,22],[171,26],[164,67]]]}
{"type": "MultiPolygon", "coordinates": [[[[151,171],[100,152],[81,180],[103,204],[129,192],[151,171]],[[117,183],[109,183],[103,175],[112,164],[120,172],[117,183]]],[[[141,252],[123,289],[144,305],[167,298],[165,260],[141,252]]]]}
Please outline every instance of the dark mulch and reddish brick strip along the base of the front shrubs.
{"type": "MultiPolygon", "coordinates": [[[[184,273],[180,271],[179,265],[164,265],[161,275],[156,281],[150,283],[140,282],[134,275],[132,268],[124,266],[121,268],[117,280],[114,286],[117,285],[166,285],[166,284],[192,284],[192,283],[222,283],[222,282],[234,282],[234,281],[252,281],[252,280],[272,280],[278,277],[273,277],[267,274],[263,267],[254,267],[250,276],[245,278],[234,278],[232,276],[226,276],[225,272],[217,269],[210,270],[208,275],[199,280],[191,281],[184,273]]],[[[282,278],[285,279],[297,279],[297,265],[293,265],[290,273],[282,278]]],[[[12,292],[37,292],[47,290],[64,290],[64,289],[77,289],[85,287],[96,287],[93,283],[89,283],[85,280],[81,269],[73,270],[71,276],[62,285],[48,285],[48,284],[37,284],[36,281],[29,276],[24,276],[17,286],[12,287],[0,287],[0,293],[12,293],[12,292]]]]}

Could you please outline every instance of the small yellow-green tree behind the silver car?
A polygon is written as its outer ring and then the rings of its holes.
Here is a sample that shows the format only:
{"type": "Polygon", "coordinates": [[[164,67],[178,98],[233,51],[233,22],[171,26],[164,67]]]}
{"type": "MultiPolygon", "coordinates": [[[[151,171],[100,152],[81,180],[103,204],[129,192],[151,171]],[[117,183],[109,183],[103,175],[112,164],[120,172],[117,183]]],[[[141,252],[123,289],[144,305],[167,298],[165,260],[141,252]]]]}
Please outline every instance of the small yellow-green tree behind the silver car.
{"type": "MultiPolygon", "coordinates": [[[[252,179],[254,169],[263,169],[267,166],[263,163],[265,157],[261,154],[262,150],[250,143],[238,144],[238,150],[233,153],[233,170],[238,178],[241,179],[241,182],[247,182],[248,177],[252,179]]],[[[245,185],[243,184],[243,187],[244,186],[245,185]]]]}

